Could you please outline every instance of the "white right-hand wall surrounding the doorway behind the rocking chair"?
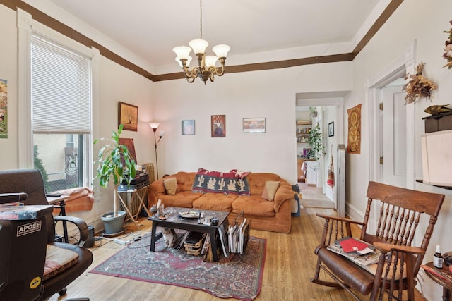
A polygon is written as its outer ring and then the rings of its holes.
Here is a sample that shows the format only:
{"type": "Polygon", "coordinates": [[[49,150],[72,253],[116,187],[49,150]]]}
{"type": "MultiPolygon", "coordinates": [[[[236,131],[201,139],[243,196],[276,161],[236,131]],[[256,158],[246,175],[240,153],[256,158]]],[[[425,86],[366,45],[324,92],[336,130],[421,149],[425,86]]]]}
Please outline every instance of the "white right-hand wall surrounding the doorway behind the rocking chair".
{"type": "MultiPolygon", "coordinates": [[[[452,1],[438,0],[434,2],[411,0],[403,1],[393,16],[377,32],[371,42],[353,61],[353,90],[345,97],[346,109],[362,104],[361,154],[347,154],[347,211],[352,215],[362,215],[366,206],[365,197],[369,182],[369,104],[365,99],[364,87],[369,78],[379,75],[391,66],[405,49],[416,41],[415,64],[426,63],[424,75],[439,84],[432,102],[421,100],[415,106],[415,164],[416,178],[422,179],[422,158],[420,155],[420,135],[424,133],[422,117],[427,116],[424,109],[432,104],[450,103],[452,86],[452,70],[442,68],[446,61],[442,59],[444,41],[447,35],[443,30],[449,30],[452,1]]],[[[412,70],[414,73],[414,70],[412,70]]],[[[412,104],[410,104],[412,106],[412,104]]],[[[347,137],[345,137],[347,139],[347,137]]],[[[449,166],[450,167],[450,166],[449,166]]],[[[434,188],[429,185],[415,183],[415,189],[432,191],[446,195],[439,221],[436,223],[432,240],[427,250],[425,262],[432,260],[435,245],[441,245],[444,252],[452,250],[452,242],[448,232],[452,228],[451,190],[434,188]]],[[[423,274],[423,271],[420,272],[423,274]]],[[[423,276],[421,281],[427,300],[441,300],[442,290],[439,285],[423,276]]]]}

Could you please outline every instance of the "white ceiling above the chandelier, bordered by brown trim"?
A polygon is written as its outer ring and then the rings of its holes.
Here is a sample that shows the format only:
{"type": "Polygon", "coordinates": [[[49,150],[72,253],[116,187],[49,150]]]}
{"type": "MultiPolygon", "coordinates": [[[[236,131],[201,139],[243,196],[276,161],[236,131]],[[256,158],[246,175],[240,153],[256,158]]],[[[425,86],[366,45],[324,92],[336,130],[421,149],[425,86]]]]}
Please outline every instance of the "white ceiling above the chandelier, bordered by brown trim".
{"type": "MultiPolygon", "coordinates": [[[[200,34],[199,0],[49,1],[157,68],[177,65],[172,48],[188,46],[189,40],[200,34]]],[[[359,30],[365,23],[373,23],[374,10],[381,10],[387,3],[388,0],[203,0],[203,39],[209,42],[210,53],[215,44],[230,45],[228,56],[287,52],[335,43],[348,43],[351,51],[359,42],[354,41],[359,30]]]]}

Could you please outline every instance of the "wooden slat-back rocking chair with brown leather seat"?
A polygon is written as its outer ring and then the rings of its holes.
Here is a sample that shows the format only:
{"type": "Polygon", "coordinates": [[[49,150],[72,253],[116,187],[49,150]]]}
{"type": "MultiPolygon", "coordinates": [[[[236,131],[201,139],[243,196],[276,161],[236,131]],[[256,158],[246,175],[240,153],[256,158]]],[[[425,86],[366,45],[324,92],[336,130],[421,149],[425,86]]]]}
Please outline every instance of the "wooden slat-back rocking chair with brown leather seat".
{"type": "Polygon", "coordinates": [[[382,300],[385,293],[388,293],[388,300],[403,300],[403,290],[407,290],[408,300],[415,300],[415,277],[429,245],[444,195],[369,182],[367,197],[363,222],[317,214],[325,219],[325,226],[320,245],[315,250],[318,260],[311,282],[344,288],[357,300],[356,293],[370,293],[370,300],[382,300]],[[381,202],[373,202],[377,199],[381,202]],[[369,234],[369,216],[378,213],[376,231],[369,234]],[[327,249],[335,240],[352,237],[352,223],[362,226],[359,239],[369,242],[381,252],[376,264],[359,266],[327,249]],[[421,226],[424,226],[424,232],[421,226]],[[418,247],[412,246],[415,242],[418,247]],[[335,282],[319,278],[321,269],[335,282]]]}

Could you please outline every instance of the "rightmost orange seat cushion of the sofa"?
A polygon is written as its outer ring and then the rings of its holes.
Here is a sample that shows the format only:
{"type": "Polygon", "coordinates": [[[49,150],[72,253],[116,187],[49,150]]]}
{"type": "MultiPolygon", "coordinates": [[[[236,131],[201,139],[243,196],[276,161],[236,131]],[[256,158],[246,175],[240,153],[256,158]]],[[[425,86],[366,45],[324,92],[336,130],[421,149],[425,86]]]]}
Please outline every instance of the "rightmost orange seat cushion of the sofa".
{"type": "Polygon", "coordinates": [[[245,216],[275,216],[275,207],[273,202],[268,202],[260,195],[251,195],[249,197],[239,196],[232,203],[232,212],[239,214],[241,211],[245,216]]]}

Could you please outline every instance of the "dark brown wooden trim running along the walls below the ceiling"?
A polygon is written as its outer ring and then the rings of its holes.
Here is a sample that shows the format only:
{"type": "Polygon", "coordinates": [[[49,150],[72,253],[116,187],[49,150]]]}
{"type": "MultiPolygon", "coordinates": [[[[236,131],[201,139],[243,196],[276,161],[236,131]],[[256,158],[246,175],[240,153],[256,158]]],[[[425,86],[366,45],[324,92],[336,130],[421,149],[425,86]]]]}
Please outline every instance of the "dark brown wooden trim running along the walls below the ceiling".
{"type": "MultiPolygon", "coordinates": [[[[259,70],[271,70],[271,69],[278,69],[278,68],[290,68],[295,66],[303,66],[303,65],[311,65],[316,63],[333,63],[333,62],[340,62],[340,61],[353,61],[357,54],[364,49],[364,47],[367,45],[367,43],[371,40],[372,37],[378,32],[378,30],[383,26],[384,23],[386,23],[386,20],[388,20],[389,17],[393,14],[394,11],[400,6],[400,4],[403,2],[403,0],[392,0],[391,3],[386,7],[386,9],[383,11],[381,16],[376,20],[376,22],[371,26],[369,31],[364,35],[364,37],[359,41],[355,49],[352,51],[352,53],[346,53],[346,54],[333,54],[328,56],[313,56],[309,58],[300,58],[300,59],[290,59],[290,60],[284,60],[284,61],[270,61],[270,62],[264,62],[264,63],[251,63],[251,64],[245,64],[245,65],[237,65],[237,66],[227,66],[226,73],[241,73],[241,72],[249,72],[249,71],[259,71],[259,70]]],[[[46,15],[45,13],[42,13],[42,11],[39,11],[37,8],[34,8],[33,6],[30,6],[29,4],[26,4],[23,1],[20,0],[0,0],[0,4],[4,4],[8,8],[11,8],[13,10],[17,10],[17,8],[23,9],[23,11],[27,11],[30,13],[33,17],[33,19],[37,20],[38,22],[47,25],[48,27],[52,28],[53,30],[57,30],[57,32],[60,32],[62,35],[66,35],[66,37],[69,37],[77,42],[80,42],[81,44],[85,45],[86,47],[94,47],[96,49],[99,49],[100,54],[102,56],[105,56],[105,58],[110,59],[114,61],[115,63],[118,63],[120,66],[123,66],[124,68],[127,68],[135,73],[138,73],[139,75],[142,75],[145,78],[148,78],[149,80],[153,82],[160,82],[163,80],[177,80],[184,78],[184,75],[182,72],[178,73],[166,73],[166,74],[160,74],[160,75],[153,75],[152,73],[144,70],[143,68],[135,65],[134,63],[131,63],[130,61],[127,61],[123,57],[119,56],[118,54],[115,54],[113,51],[110,51],[106,47],[103,47],[102,45],[98,44],[97,42],[93,41],[92,39],[86,37],[85,35],[82,35],[80,32],[73,30],[73,28],[65,25],[64,23],[59,22],[58,20],[46,15]]]]}

